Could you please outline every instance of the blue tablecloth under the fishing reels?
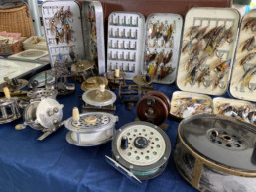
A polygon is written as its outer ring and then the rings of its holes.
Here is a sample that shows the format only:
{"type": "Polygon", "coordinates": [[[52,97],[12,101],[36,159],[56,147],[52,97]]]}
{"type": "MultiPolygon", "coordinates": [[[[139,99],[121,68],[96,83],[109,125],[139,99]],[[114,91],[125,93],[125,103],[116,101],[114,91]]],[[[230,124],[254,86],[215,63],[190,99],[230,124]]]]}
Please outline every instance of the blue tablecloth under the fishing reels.
{"type": "MultiPolygon", "coordinates": [[[[177,91],[176,85],[154,84],[169,98],[177,91]]],[[[73,95],[58,97],[64,104],[64,119],[72,114],[72,108],[82,106],[79,95],[83,92],[76,85],[73,95]]],[[[128,111],[119,99],[116,101],[119,122],[116,129],[136,118],[135,106],[128,111]]],[[[111,156],[111,142],[96,147],[78,147],[65,140],[64,126],[44,141],[35,140],[40,131],[26,128],[17,131],[18,120],[0,125],[0,191],[195,191],[175,168],[173,153],[178,122],[170,117],[166,133],[172,144],[172,154],[166,170],[158,177],[136,185],[112,168],[105,161],[111,156]]]]}

